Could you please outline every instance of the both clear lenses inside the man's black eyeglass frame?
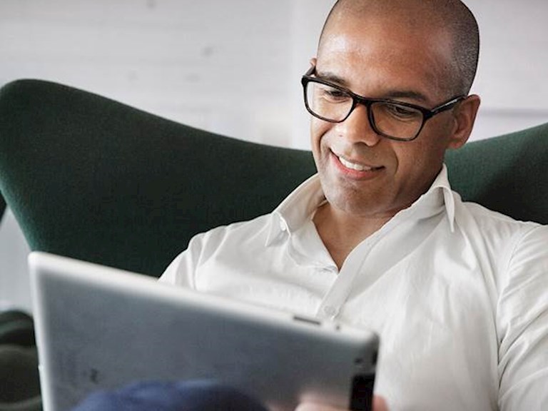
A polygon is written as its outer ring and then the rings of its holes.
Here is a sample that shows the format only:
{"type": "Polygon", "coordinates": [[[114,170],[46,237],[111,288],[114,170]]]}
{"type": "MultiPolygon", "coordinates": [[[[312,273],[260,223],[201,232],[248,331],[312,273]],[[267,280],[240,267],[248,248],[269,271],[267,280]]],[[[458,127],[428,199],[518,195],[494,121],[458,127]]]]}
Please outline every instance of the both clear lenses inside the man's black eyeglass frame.
{"type": "MultiPolygon", "coordinates": [[[[306,87],[309,110],[326,121],[340,122],[352,111],[352,96],[340,88],[310,81],[306,87]]],[[[370,104],[371,126],[378,133],[398,139],[415,138],[422,127],[421,111],[397,103],[374,102],[370,104]]]]}

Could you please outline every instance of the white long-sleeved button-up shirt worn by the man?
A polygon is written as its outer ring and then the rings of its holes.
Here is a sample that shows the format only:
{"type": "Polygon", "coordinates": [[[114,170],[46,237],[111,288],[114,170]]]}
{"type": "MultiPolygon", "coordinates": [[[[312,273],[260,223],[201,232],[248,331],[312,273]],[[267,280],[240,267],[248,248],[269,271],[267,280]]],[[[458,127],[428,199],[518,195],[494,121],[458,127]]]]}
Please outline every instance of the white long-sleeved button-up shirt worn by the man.
{"type": "Polygon", "coordinates": [[[273,213],[196,235],[161,280],[380,335],[375,392],[399,410],[548,410],[548,226],[430,190],[339,271],[312,221],[318,176],[273,213]]]}

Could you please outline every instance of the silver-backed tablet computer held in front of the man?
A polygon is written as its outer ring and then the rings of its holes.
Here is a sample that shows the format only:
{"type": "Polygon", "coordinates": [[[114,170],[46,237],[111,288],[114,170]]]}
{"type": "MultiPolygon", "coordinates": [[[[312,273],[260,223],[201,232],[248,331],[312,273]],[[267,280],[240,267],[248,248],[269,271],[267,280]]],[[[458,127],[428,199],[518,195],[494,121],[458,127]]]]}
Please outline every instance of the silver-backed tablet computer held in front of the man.
{"type": "Polygon", "coordinates": [[[367,330],[47,253],[29,268],[44,411],[157,380],[214,380],[273,411],[370,408],[378,338],[367,330]]]}

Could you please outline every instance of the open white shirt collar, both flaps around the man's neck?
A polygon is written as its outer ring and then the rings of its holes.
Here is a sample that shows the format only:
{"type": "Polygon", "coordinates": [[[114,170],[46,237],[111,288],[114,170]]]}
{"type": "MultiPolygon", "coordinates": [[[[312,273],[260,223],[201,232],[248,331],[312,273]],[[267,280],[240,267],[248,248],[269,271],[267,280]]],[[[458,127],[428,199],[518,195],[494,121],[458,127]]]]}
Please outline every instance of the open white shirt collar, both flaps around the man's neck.
{"type": "MultiPolygon", "coordinates": [[[[290,193],[285,200],[273,211],[268,228],[268,236],[265,245],[272,245],[281,235],[291,235],[308,221],[320,204],[325,201],[320,178],[318,174],[308,178],[298,188],[290,193]]],[[[445,206],[447,218],[449,219],[451,232],[455,230],[455,198],[451,190],[449,178],[447,178],[447,166],[437,175],[430,189],[423,194],[415,203],[407,209],[407,212],[423,211],[418,215],[425,217],[432,213],[432,210],[445,206]]],[[[404,210],[405,211],[405,210],[404,210]]],[[[406,212],[406,213],[407,213],[406,212]]],[[[415,214],[416,215],[416,214],[415,214]]],[[[419,217],[420,218],[420,217],[419,217]]]]}

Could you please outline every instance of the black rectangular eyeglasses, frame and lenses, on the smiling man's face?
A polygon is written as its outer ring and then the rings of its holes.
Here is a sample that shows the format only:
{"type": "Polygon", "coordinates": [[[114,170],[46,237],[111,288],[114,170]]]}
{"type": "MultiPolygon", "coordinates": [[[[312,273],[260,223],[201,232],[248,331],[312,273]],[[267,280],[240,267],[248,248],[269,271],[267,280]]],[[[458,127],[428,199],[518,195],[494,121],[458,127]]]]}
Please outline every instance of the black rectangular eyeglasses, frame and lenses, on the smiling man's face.
{"type": "Polygon", "coordinates": [[[397,141],[417,138],[427,120],[450,110],[466,96],[452,97],[432,110],[385,98],[366,98],[337,84],[315,77],[315,66],[308,70],[301,83],[305,106],[310,114],[330,123],[342,123],[358,104],[367,108],[367,116],[373,131],[380,136],[397,141]]]}

